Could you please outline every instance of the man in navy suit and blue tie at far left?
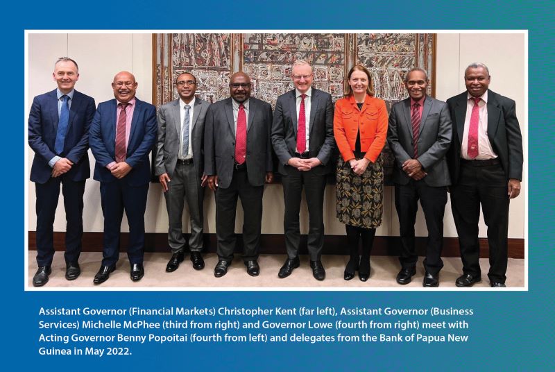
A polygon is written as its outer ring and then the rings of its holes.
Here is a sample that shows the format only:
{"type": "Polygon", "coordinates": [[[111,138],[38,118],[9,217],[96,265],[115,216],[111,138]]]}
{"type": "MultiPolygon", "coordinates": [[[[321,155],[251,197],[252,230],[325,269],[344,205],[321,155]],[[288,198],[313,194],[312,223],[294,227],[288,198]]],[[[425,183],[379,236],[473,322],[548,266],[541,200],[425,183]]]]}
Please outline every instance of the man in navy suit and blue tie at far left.
{"type": "Polygon", "coordinates": [[[53,223],[63,185],[67,228],[65,234],[65,278],[76,279],[83,237],[83,193],[90,176],[89,128],[94,99],[77,92],[77,63],[63,57],[56,61],[52,77],[58,88],[33,99],[29,113],[29,146],[35,151],[31,181],[37,198],[37,264],[33,285],[48,282],[54,257],[53,223]]]}

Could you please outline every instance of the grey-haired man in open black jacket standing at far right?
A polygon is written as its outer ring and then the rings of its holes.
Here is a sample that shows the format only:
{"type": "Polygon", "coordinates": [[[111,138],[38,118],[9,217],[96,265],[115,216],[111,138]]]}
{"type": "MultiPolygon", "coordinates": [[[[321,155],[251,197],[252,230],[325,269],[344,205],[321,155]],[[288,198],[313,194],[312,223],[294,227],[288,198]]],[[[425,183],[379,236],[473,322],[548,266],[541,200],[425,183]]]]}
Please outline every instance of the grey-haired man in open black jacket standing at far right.
{"type": "Polygon", "coordinates": [[[448,155],[451,208],[459,234],[463,275],[457,287],[481,281],[478,221],[480,205],[488,226],[491,287],[505,287],[509,201],[520,194],[522,135],[515,101],[488,90],[490,73],[482,63],[465,70],[466,92],[447,100],[453,122],[448,155]]]}

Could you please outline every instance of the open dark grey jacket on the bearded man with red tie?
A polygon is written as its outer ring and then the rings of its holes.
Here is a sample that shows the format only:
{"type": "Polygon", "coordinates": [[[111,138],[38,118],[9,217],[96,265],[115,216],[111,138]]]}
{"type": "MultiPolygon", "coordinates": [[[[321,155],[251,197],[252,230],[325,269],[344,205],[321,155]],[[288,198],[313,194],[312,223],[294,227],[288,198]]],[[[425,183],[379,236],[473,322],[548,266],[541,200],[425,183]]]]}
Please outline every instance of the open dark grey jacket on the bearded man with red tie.
{"type": "MultiPolygon", "coordinates": [[[[272,107],[269,103],[249,98],[247,121],[246,167],[248,182],[262,186],[266,172],[273,171],[270,130],[272,107]]],[[[205,119],[204,173],[218,176],[219,187],[226,189],[233,177],[235,162],[235,128],[232,99],[212,103],[205,119]]]]}

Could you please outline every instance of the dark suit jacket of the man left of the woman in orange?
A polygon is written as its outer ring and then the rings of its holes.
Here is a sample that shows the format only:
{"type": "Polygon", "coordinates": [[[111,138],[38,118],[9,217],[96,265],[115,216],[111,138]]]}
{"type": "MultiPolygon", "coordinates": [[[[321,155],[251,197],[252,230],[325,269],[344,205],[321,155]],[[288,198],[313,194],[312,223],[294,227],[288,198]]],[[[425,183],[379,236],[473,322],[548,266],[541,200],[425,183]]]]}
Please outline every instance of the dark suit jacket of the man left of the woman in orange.
{"type": "MultiPolygon", "coordinates": [[[[334,106],[332,96],[312,88],[309,121],[309,156],[318,158],[323,165],[312,169],[314,174],[332,172],[334,152],[334,106]]],[[[295,90],[278,97],[273,112],[272,144],[278,155],[280,174],[287,175],[287,162],[297,148],[297,98],[295,90]]]]}

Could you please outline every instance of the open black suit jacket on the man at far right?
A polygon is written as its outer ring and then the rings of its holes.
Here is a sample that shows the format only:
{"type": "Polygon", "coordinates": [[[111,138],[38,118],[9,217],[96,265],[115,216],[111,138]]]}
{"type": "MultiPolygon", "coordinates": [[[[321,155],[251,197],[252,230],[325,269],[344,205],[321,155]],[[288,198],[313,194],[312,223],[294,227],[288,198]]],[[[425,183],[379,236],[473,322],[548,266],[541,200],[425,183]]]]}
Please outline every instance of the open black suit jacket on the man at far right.
{"type": "MultiPolygon", "coordinates": [[[[459,180],[467,97],[468,93],[464,92],[447,99],[453,122],[453,140],[447,155],[453,185],[459,180]]],[[[499,157],[507,181],[509,178],[522,180],[522,135],[516,117],[515,101],[488,90],[487,106],[488,139],[499,157]]]]}

